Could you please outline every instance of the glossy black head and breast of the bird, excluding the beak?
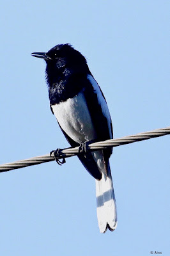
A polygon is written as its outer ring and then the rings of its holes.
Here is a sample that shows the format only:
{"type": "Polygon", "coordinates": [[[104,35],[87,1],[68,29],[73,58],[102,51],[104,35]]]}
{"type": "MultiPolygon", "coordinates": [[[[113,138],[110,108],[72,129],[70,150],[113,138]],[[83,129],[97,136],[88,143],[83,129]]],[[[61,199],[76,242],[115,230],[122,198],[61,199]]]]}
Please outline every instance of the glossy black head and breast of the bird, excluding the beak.
{"type": "Polygon", "coordinates": [[[46,53],[46,79],[50,104],[72,98],[84,87],[87,75],[91,74],[86,59],[69,44],[56,45],[46,53]]]}

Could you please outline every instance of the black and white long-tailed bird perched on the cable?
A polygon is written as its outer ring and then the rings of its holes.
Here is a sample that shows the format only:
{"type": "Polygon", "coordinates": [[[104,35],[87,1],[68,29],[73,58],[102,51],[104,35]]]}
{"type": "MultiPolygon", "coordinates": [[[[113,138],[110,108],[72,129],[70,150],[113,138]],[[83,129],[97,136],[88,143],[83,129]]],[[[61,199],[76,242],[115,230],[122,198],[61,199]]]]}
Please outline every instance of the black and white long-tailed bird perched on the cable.
{"type": "MultiPolygon", "coordinates": [[[[91,74],[86,58],[70,44],[47,52],[33,52],[46,62],[50,109],[71,147],[113,138],[112,121],[104,94],[91,74]]],[[[116,200],[109,157],[112,148],[84,151],[78,157],[95,178],[98,227],[101,233],[117,226],[116,200]]]]}

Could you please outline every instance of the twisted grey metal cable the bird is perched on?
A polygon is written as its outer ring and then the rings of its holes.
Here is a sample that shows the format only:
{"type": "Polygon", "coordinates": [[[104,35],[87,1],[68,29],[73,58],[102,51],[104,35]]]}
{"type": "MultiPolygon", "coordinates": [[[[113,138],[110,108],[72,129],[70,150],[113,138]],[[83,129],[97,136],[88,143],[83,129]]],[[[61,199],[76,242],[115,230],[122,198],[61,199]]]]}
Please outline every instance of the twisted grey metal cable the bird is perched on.
{"type": "MultiPolygon", "coordinates": [[[[89,150],[95,151],[99,149],[105,149],[107,147],[118,147],[120,145],[125,145],[129,143],[134,143],[136,141],[142,141],[142,140],[149,140],[151,138],[156,138],[160,136],[164,136],[170,134],[170,127],[157,129],[149,132],[141,132],[135,135],[125,136],[119,139],[111,139],[111,140],[105,140],[100,142],[91,143],[88,145],[89,150]]],[[[75,148],[65,148],[61,150],[61,157],[59,159],[62,159],[63,157],[71,157],[79,154],[79,147],[75,148]]],[[[46,154],[44,156],[37,156],[32,157],[25,160],[16,161],[14,163],[6,163],[0,165],[0,172],[7,172],[10,170],[23,168],[35,164],[41,164],[46,163],[50,161],[54,161],[54,154],[50,156],[50,154],[46,154]]]]}

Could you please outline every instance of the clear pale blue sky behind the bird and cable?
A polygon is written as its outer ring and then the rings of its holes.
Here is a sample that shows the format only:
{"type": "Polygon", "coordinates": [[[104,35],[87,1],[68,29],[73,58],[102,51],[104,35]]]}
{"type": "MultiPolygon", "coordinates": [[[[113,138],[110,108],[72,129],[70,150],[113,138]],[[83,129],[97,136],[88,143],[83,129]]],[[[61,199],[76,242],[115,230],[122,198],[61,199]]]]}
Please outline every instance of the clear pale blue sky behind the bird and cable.
{"type": "MultiPolygon", "coordinates": [[[[168,1],[1,3],[1,163],[68,147],[50,113],[45,63],[70,43],[104,92],[114,138],[169,126],[168,1]]],[[[100,234],[95,180],[77,157],[0,179],[0,254],[169,255],[169,136],[114,148],[118,227],[100,234]]]]}

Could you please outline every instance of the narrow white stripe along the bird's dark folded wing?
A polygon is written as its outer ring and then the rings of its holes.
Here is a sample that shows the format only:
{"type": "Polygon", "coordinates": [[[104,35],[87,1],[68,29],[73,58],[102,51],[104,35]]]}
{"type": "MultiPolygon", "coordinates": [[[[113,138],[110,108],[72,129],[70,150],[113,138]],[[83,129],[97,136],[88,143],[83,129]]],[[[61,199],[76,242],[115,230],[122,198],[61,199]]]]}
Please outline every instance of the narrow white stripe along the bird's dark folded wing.
{"type": "Polygon", "coordinates": [[[95,93],[97,93],[98,104],[100,104],[100,106],[102,108],[102,113],[107,118],[107,123],[108,123],[108,127],[109,127],[109,134],[110,134],[110,138],[112,138],[112,128],[111,128],[111,122],[112,121],[111,121],[111,115],[109,113],[109,109],[107,107],[107,103],[106,103],[106,101],[104,99],[104,96],[102,95],[102,92],[100,90],[100,87],[98,86],[98,83],[94,79],[94,77],[91,76],[91,75],[88,75],[87,78],[90,81],[91,85],[93,86],[93,89],[94,89],[95,93]]]}

